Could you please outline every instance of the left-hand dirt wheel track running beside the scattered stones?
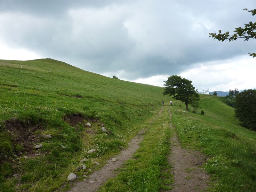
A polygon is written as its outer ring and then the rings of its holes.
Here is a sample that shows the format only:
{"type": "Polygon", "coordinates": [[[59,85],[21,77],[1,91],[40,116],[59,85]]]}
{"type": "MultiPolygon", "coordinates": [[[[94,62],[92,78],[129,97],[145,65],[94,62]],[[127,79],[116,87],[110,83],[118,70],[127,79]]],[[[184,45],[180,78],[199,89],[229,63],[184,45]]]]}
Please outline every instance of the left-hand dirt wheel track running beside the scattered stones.
{"type": "MultiPolygon", "coordinates": [[[[164,108],[162,108],[158,115],[161,114],[164,108]]],[[[151,122],[157,117],[152,118],[151,122]]],[[[150,123],[151,123],[150,122],[150,123]]],[[[76,183],[76,185],[69,190],[69,192],[93,192],[100,188],[109,178],[115,177],[117,172],[116,169],[120,168],[125,161],[132,158],[133,153],[140,147],[140,142],[143,139],[145,129],[142,129],[138,134],[130,141],[129,148],[123,150],[118,156],[116,156],[117,161],[112,162],[109,159],[108,163],[102,167],[100,170],[93,172],[90,175],[90,179],[85,179],[84,181],[76,183]]]]}

